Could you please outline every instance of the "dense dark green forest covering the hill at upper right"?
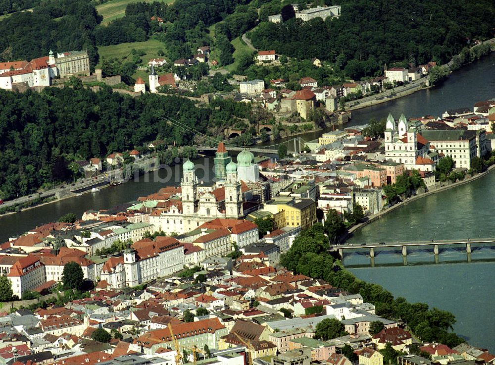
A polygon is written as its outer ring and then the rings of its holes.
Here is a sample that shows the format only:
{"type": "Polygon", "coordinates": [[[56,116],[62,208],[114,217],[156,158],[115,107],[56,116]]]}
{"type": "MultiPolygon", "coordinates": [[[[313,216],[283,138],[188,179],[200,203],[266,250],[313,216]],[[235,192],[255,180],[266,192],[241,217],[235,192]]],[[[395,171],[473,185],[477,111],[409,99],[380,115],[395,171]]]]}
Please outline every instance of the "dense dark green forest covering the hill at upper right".
{"type": "MultiPolygon", "coordinates": [[[[394,61],[443,63],[469,41],[494,34],[493,0],[332,2],[342,6],[340,18],[263,22],[250,35],[254,47],[297,58],[318,57],[359,78],[377,74],[394,61]]],[[[272,3],[273,11],[279,10],[279,1],[272,3]]]]}

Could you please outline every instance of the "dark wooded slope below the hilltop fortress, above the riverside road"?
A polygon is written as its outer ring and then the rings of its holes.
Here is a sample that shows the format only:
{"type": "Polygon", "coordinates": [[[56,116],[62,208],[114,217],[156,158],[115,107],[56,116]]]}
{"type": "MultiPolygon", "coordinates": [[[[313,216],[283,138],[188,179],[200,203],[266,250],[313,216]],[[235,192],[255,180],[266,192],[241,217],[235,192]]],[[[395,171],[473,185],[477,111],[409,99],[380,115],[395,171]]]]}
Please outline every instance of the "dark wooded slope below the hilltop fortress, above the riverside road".
{"type": "Polygon", "coordinates": [[[155,138],[179,146],[192,143],[191,133],[163,116],[216,134],[236,116],[248,118],[249,110],[233,101],[200,108],[180,97],[133,99],[109,88],[98,93],[77,87],[22,94],[0,90],[0,199],[71,179],[68,164],[74,159],[105,157],[155,138]]]}

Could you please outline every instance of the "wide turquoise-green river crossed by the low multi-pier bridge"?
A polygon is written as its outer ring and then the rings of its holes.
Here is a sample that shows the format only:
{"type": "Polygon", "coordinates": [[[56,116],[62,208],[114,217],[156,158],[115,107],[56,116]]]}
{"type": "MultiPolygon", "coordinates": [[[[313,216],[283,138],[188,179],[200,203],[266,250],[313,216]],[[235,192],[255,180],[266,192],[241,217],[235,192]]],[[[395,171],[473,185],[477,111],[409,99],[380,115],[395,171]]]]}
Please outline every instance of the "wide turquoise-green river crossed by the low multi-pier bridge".
{"type": "MultiPolygon", "coordinates": [[[[491,172],[418,199],[363,227],[348,242],[495,237],[491,224],[494,185],[495,173],[491,172]]],[[[344,265],[358,278],[378,283],[396,297],[454,313],[457,334],[495,352],[495,247],[477,248],[469,263],[464,250],[441,249],[438,264],[431,251],[408,251],[407,266],[399,252],[379,253],[375,267],[370,266],[368,253],[353,253],[344,257],[344,265]]]]}

